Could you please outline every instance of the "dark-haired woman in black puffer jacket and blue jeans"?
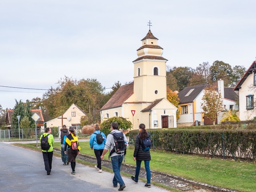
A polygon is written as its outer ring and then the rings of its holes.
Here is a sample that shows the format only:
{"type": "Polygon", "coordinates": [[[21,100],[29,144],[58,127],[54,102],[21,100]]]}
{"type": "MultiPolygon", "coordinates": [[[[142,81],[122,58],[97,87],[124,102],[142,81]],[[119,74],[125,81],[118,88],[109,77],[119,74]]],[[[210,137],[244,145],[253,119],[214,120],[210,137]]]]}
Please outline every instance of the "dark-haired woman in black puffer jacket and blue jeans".
{"type": "Polygon", "coordinates": [[[150,179],[151,179],[151,172],[150,172],[150,149],[147,151],[144,151],[142,149],[143,146],[143,140],[145,138],[150,137],[150,133],[148,133],[145,129],[145,125],[142,123],[139,125],[139,134],[136,136],[135,141],[135,149],[134,149],[134,161],[136,161],[136,171],[135,176],[131,176],[131,179],[134,180],[135,183],[138,183],[138,177],[141,169],[141,163],[144,161],[145,169],[146,169],[146,176],[147,176],[147,183],[145,184],[145,187],[151,187],[150,185],[150,179]]]}

